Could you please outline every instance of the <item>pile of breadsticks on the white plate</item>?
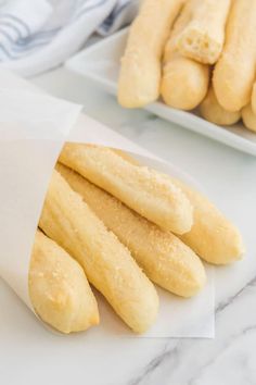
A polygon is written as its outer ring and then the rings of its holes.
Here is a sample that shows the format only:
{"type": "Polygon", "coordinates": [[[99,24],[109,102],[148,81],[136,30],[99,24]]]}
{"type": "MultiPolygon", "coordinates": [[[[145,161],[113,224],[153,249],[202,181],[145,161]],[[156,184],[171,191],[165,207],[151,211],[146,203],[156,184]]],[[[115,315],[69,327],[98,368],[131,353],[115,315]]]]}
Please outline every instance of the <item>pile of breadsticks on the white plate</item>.
{"type": "Polygon", "coordinates": [[[121,59],[118,101],[163,98],[181,110],[256,131],[256,1],[144,0],[121,59]]]}

